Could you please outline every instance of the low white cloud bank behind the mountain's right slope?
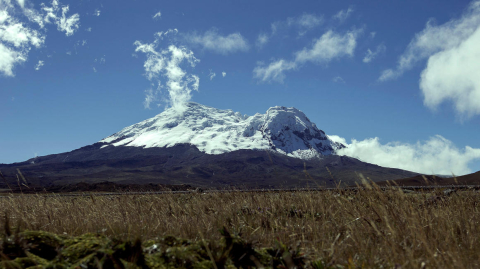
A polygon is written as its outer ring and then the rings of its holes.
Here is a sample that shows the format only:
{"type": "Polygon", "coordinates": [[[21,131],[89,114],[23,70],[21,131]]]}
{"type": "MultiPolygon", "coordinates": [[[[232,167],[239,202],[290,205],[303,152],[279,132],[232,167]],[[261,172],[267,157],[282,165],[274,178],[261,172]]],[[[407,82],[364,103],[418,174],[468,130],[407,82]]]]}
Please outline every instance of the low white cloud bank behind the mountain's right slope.
{"type": "Polygon", "coordinates": [[[346,143],[342,137],[329,135],[330,139],[347,146],[339,155],[384,167],[405,169],[424,174],[464,175],[471,173],[469,164],[480,159],[480,149],[466,146],[458,149],[440,135],[416,144],[390,142],[381,144],[378,137],[346,143]]]}

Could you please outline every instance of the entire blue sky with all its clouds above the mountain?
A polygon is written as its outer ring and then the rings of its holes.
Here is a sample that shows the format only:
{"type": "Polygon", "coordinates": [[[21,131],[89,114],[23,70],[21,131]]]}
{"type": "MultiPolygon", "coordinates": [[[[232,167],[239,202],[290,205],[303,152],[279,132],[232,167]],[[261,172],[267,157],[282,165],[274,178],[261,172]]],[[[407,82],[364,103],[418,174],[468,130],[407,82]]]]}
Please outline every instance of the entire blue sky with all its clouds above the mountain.
{"type": "Polygon", "coordinates": [[[342,154],[465,174],[480,170],[479,70],[480,1],[0,0],[0,163],[190,100],[294,106],[342,154]]]}

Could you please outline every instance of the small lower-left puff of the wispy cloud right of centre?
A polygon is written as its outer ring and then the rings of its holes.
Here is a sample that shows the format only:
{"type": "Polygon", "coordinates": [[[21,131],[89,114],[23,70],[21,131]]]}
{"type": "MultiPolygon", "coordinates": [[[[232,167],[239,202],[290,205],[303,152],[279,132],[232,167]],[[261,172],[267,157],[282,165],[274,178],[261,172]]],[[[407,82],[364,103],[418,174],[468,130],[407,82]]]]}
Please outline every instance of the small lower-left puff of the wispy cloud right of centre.
{"type": "Polygon", "coordinates": [[[295,69],[297,65],[295,62],[289,62],[283,59],[274,61],[268,66],[263,63],[258,63],[253,69],[253,77],[260,79],[262,82],[276,81],[283,83],[285,79],[285,71],[295,69]]]}

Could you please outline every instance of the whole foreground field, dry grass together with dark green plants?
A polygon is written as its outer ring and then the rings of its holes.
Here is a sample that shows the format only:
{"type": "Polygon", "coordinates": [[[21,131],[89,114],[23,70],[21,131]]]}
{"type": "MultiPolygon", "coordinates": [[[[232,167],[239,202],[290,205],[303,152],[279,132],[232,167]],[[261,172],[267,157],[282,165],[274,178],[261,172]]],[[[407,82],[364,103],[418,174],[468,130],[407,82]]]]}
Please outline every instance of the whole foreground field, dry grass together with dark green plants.
{"type": "Polygon", "coordinates": [[[479,268],[478,192],[0,199],[0,268],[479,268]],[[447,195],[448,194],[448,195],[447,195]]]}

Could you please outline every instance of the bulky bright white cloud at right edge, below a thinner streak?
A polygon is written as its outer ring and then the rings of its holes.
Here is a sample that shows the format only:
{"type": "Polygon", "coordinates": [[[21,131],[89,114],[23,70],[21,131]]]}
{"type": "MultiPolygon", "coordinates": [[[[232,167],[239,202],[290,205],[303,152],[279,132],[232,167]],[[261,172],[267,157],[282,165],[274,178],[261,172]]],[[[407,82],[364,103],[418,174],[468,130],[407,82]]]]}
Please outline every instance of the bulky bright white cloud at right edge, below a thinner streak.
{"type": "Polygon", "coordinates": [[[480,27],[457,47],[432,55],[420,78],[424,104],[451,101],[462,117],[480,115],[480,27]]]}

